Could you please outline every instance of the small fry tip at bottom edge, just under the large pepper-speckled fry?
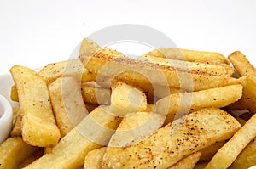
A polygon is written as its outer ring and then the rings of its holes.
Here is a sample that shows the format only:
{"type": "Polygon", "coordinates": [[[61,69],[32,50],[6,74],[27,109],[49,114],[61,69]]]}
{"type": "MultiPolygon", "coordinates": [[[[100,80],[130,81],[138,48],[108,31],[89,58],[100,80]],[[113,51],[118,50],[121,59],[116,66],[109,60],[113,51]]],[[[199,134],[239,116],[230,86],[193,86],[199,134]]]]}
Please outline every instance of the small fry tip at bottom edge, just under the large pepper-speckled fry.
{"type": "Polygon", "coordinates": [[[175,165],[168,167],[167,169],[193,169],[197,161],[199,161],[201,157],[201,152],[196,152],[192,155],[189,155],[183,160],[178,161],[175,165]]]}

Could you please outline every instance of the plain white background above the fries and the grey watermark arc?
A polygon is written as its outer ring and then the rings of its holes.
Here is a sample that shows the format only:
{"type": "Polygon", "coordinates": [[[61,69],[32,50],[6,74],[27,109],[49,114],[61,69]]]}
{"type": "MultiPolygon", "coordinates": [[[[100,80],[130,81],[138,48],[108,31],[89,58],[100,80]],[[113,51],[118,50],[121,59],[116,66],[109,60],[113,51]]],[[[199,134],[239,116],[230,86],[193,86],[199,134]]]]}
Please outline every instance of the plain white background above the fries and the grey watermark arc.
{"type": "Polygon", "coordinates": [[[241,50],[256,65],[253,0],[0,0],[0,74],[69,58],[84,37],[116,24],[148,25],[179,48],[241,50]]]}

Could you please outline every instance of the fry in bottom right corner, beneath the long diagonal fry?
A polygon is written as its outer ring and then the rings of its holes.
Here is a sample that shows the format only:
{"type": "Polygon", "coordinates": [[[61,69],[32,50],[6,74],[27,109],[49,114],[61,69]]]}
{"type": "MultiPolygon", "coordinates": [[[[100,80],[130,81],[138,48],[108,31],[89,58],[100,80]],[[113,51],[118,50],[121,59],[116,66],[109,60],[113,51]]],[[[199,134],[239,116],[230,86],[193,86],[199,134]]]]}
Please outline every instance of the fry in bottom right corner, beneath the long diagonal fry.
{"type": "Polygon", "coordinates": [[[243,169],[256,165],[256,140],[247,145],[245,149],[238,155],[236,161],[233,162],[231,169],[243,169]]]}

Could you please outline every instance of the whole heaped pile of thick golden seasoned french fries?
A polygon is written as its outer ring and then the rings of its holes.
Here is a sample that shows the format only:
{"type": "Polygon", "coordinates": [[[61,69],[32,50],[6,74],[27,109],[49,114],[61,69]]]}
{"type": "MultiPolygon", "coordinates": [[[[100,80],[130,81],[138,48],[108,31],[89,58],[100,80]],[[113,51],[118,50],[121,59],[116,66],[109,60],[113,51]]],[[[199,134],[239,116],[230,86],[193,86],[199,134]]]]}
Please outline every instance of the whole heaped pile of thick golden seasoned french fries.
{"type": "Polygon", "coordinates": [[[0,169],[256,165],[256,70],[239,51],[131,59],[84,38],[77,59],[10,73],[19,107],[0,169]]]}

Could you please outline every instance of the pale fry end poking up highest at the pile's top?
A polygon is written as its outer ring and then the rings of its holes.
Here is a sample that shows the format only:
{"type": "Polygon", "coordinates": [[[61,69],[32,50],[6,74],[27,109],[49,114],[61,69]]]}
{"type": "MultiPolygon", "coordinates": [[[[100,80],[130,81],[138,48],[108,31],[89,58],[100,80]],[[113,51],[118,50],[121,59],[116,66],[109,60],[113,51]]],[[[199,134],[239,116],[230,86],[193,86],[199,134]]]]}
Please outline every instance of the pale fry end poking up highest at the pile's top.
{"type": "Polygon", "coordinates": [[[101,49],[101,47],[91,40],[88,37],[85,37],[83,41],[81,42],[80,48],[79,48],[79,55],[80,54],[94,54],[97,50],[101,49]]]}

